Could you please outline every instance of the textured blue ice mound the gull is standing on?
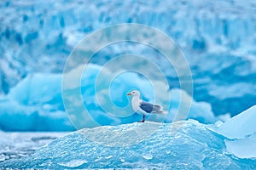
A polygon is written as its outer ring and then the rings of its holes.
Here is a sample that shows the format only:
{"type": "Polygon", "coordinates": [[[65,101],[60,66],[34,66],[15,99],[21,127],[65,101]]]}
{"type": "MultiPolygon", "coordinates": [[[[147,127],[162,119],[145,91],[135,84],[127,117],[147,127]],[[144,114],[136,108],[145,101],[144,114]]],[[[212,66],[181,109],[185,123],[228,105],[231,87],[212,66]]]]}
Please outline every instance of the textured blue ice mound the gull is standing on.
{"type": "Polygon", "coordinates": [[[30,157],[5,161],[0,167],[255,169],[256,160],[230,155],[223,136],[189,120],[84,128],[41,147],[30,157]],[[146,137],[151,130],[154,133],[146,137]],[[143,135],[146,138],[141,140],[143,135]]]}

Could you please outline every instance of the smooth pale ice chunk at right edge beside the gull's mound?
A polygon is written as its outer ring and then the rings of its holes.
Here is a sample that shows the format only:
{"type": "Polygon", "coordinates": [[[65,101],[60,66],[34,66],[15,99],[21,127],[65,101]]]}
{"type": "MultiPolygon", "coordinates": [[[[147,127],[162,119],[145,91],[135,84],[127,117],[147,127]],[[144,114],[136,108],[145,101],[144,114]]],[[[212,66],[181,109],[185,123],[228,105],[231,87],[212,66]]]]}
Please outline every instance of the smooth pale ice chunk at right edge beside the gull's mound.
{"type": "Polygon", "coordinates": [[[227,150],[240,158],[256,159],[256,105],[216,128],[224,135],[227,150]]]}

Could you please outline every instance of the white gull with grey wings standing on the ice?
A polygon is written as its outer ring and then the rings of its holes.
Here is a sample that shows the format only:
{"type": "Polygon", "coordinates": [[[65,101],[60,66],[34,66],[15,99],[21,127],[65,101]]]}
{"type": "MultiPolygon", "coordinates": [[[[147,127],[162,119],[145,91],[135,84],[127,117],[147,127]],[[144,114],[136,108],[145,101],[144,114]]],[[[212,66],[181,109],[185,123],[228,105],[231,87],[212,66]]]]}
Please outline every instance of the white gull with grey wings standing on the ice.
{"type": "Polygon", "coordinates": [[[145,116],[149,114],[167,114],[167,111],[163,110],[163,106],[154,105],[140,99],[141,94],[137,90],[133,90],[127,95],[132,95],[131,106],[133,111],[143,115],[143,121],[141,122],[145,122],[145,116]]]}

